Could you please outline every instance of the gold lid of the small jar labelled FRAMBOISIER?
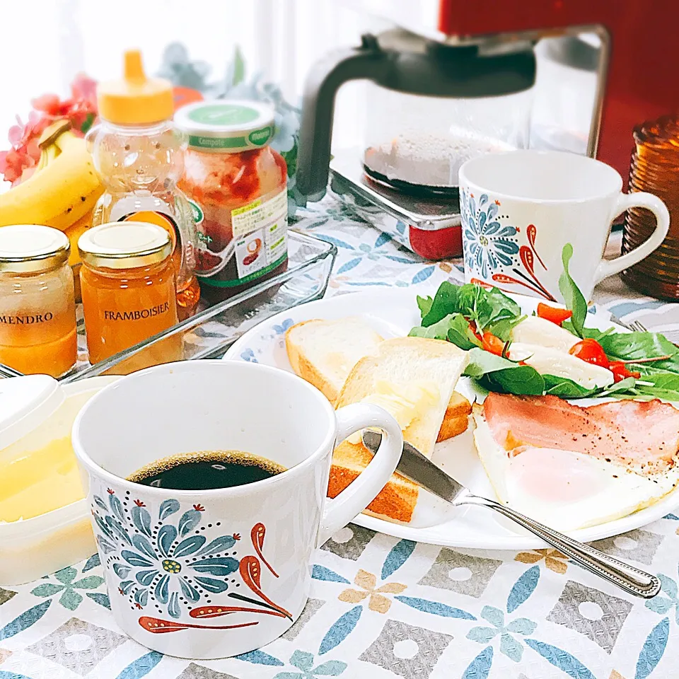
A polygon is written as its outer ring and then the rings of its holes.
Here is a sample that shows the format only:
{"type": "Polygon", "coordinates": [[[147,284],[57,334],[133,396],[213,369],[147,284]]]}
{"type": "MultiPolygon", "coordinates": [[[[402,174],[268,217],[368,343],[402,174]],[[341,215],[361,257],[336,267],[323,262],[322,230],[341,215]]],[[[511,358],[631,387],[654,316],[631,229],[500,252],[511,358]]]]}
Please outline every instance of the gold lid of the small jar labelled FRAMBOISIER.
{"type": "Polygon", "coordinates": [[[88,228],[78,239],[83,264],[103,269],[138,269],[172,253],[170,234],[146,221],[113,221],[88,228]]]}

